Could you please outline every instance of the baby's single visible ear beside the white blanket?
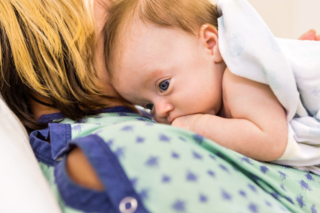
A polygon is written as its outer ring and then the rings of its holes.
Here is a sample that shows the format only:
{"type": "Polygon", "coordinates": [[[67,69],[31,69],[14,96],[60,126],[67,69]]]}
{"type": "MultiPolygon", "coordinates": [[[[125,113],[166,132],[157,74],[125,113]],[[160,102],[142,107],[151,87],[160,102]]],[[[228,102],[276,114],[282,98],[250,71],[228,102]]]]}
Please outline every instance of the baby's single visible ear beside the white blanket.
{"type": "Polygon", "coordinates": [[[222,56],[218,45],[218,30],[211,25],[204,24],[200,27],[199,39],[204,47],[210,50],[214,62],[221,62],[222,56]]]}

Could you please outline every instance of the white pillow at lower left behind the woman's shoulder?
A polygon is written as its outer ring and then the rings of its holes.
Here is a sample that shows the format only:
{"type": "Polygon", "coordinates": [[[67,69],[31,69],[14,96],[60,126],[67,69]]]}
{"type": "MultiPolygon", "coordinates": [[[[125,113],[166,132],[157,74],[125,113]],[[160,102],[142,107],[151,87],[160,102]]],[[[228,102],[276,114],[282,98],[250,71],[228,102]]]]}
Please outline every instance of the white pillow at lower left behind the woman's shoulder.
{"type": "Polygon", "coordinates": [[[18,118],[0,96],[0,212],[61,212],[18,118]]]}

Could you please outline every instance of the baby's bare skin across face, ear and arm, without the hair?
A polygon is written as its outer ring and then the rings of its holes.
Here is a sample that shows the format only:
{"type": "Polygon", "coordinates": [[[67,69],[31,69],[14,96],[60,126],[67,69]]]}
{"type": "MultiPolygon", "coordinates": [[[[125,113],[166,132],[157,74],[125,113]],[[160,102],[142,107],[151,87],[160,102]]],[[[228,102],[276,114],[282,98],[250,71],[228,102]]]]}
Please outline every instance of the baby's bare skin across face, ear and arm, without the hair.
{"type": "Polygon", "coordinates": [[[111,83],[120,95],[143,107],[153,103],[158,121],[253,159],[272,161],[284,153],[284,108],[268,85],[226,68],[214,27],[203,25],[198,37],[152,24],[138,27],[113,71],[111,83]],[[169,86],[161,89],[165,80],[169,86]]]}

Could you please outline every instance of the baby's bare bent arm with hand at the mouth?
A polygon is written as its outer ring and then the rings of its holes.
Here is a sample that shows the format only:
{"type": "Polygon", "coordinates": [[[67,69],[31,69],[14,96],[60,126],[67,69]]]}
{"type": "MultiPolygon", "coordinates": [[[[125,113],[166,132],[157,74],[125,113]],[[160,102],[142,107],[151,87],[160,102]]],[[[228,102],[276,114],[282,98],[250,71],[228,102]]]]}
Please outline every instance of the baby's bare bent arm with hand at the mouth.
{"type": "Polygon", "coordinates": [[[194,114],[176,118],[172,125],[192,130],[253,159],[279,158],[286,148],[287,122],[284,108],[270,87],[236,76],[227,68],[223,90],[233,118],[194,114]]]}

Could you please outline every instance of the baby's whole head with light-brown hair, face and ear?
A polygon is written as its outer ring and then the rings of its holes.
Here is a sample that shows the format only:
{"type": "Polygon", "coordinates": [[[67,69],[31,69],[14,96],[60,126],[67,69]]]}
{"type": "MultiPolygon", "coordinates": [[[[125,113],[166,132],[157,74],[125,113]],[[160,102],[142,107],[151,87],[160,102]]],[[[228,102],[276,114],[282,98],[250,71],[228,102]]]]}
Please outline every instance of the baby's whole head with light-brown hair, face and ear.
{"type": "Polygon", "coordinates": [[[120,95],[168,123],[220,110],[225,67],[215,5],[208,0],[117,0],[108,16],[106,65],[120,95]]]}

